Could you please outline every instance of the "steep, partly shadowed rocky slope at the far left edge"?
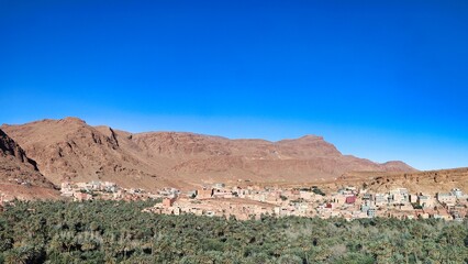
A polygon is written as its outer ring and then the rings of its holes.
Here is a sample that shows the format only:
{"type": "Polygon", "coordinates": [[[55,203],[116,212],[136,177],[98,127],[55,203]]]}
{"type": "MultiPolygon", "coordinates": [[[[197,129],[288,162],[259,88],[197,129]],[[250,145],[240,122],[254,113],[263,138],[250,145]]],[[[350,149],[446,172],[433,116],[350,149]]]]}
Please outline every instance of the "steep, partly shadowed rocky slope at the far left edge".
{"type": "Polygon", "coordinates": [[[36,162],[0,130],[0,193],[19,198],[54,198],[54,185],[37,169],[36,162]]]}

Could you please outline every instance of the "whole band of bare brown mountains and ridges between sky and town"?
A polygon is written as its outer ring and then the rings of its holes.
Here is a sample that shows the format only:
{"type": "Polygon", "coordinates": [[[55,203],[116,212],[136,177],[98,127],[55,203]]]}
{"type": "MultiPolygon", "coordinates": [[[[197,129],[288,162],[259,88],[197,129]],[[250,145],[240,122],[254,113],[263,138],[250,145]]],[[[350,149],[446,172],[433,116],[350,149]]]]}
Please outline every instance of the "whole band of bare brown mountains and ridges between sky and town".
{"type": "Polygon", "coordinates": [[[66,180],[108,180],[147,190],[214,183],[330,189],[352,184],[376,191],[404,186],[425,193],[468,187],[467,168],[417,172],[403,162],[378,164],[343,155],[315,135],[269,142],[182,132],[132,134],[77,118],[3,124],[1,131],[0,188],[29,198],[54,196],[54,185],[66,180]]]}

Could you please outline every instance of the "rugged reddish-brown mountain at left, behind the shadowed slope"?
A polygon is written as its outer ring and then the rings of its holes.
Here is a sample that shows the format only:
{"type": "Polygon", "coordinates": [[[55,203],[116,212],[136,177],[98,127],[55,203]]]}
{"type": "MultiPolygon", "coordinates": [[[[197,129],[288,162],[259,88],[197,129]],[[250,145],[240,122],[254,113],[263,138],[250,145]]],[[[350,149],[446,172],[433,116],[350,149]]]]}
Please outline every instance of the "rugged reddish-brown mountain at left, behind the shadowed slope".
{"type": "Polygon", "coordinates": [[[110,128],[92,128],[67,118],[42,120],[24,125],[2,125],[38,169],[55,184],[63,180],[111,180],[126,187],[151,188],[170,184],[157,169],[124,151],[110,128]]]}

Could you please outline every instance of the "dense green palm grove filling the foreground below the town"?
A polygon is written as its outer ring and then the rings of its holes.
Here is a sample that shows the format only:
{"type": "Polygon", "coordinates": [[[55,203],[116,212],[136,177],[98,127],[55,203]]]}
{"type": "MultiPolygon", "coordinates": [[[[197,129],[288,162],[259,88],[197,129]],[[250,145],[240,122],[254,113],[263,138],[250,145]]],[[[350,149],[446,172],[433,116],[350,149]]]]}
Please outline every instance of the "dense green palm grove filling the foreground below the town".
{"type": "Polygon", "coordinates": [[[16,202],[0,263],[467,263],[468,222],[142,212],[149,202],[16,202]]]}

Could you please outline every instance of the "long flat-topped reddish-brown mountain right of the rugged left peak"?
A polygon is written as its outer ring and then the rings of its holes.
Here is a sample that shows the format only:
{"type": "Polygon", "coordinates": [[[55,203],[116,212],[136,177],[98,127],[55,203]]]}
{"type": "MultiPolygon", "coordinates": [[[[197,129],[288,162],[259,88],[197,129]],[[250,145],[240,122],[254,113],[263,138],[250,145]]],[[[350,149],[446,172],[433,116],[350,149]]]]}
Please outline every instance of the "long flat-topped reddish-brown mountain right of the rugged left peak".
{"type": "Polygon", "coordinates": [[[403,163],[376,164],[342,155],[323,138],[297,140],[229,140],[191,133],[143,133],[132,141],[151,158],[166,158],[186,180],[307,182],[334,178],[349,170],[411,172],[403,163]]]}

